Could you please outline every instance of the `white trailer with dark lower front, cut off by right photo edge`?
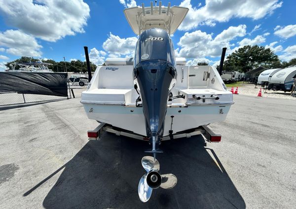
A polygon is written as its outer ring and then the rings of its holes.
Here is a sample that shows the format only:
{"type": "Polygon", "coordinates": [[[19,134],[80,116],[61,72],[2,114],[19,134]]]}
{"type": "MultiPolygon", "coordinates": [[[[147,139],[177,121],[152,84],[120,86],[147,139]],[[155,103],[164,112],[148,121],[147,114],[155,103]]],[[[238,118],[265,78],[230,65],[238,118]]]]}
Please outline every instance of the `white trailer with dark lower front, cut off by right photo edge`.
{"type": "Polygon", "coordinates": [[[284,68],[275,73],[268,84],[268,90],[291,91],[293,82],[296,78],[296,65],[284,68]]]}

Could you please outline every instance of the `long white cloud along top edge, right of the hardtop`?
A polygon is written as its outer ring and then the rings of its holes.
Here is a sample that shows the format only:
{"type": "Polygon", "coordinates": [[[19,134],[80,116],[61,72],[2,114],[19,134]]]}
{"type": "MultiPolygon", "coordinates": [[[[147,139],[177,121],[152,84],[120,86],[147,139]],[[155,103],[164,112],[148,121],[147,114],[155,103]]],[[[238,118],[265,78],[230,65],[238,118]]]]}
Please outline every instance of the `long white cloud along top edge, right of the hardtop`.
{"type": "Polygon", "coordinates": [[[233,17],[258,20],[282,6],[279,0],[206,0],[203,7],[192,7],[190,0],[180,6],[189,8],[180,30],[191,30],[199,25],[215,26],[215,22],[227,22],[233,17]]]}

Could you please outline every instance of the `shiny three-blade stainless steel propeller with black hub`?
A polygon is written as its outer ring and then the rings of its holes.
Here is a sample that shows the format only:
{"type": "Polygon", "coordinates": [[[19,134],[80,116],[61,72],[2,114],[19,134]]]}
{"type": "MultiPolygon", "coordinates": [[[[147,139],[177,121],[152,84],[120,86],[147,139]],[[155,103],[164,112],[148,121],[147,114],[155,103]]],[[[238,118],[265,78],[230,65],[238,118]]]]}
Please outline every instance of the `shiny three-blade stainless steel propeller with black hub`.
{"type": "Polygon", "coordinates": [[[144,156],[142,158],[142,166],[147,172],[140,179],[138,193],[142,202],[147,202],[152,194],[153,189],[161,187],[163,189],[171,189],[177,184],[177,177],[173,174],[160,175],[159,162],[152,156],[144,156]]]}

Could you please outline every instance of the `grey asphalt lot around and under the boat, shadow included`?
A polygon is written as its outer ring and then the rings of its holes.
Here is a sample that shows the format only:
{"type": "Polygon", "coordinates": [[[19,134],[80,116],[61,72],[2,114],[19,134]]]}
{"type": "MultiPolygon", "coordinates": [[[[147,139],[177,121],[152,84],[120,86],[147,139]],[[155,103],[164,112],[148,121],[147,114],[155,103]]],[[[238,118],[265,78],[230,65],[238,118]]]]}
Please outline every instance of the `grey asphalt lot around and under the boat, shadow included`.
{"type": "Polygon", "coordinates": [[[75,99],[0,106],[1,209],[296,208],[296,101],[234,95],[227,119],[202,136],[166,141],[160,173],[178,183],[138,197],[147,142],[104,133],[88,141],[75,99]]]}

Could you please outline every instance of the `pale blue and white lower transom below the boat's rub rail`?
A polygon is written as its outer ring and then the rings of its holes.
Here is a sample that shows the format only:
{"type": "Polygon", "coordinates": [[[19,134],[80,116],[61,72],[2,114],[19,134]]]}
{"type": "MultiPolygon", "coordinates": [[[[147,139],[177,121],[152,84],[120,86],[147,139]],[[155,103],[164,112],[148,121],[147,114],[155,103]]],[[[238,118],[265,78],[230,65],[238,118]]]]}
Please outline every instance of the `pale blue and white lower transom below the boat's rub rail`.
{"type": "MultiPolygon", "coordinates": [[[[83,106],[89,119],[147,136],[142,107],[86,103],[83,106]]],[[[200,125],[223,121],[226,119],[230,106],[231,104],[168,106],[163,136],[169,135],[171,129],[174,134],[200,125]]]]}

